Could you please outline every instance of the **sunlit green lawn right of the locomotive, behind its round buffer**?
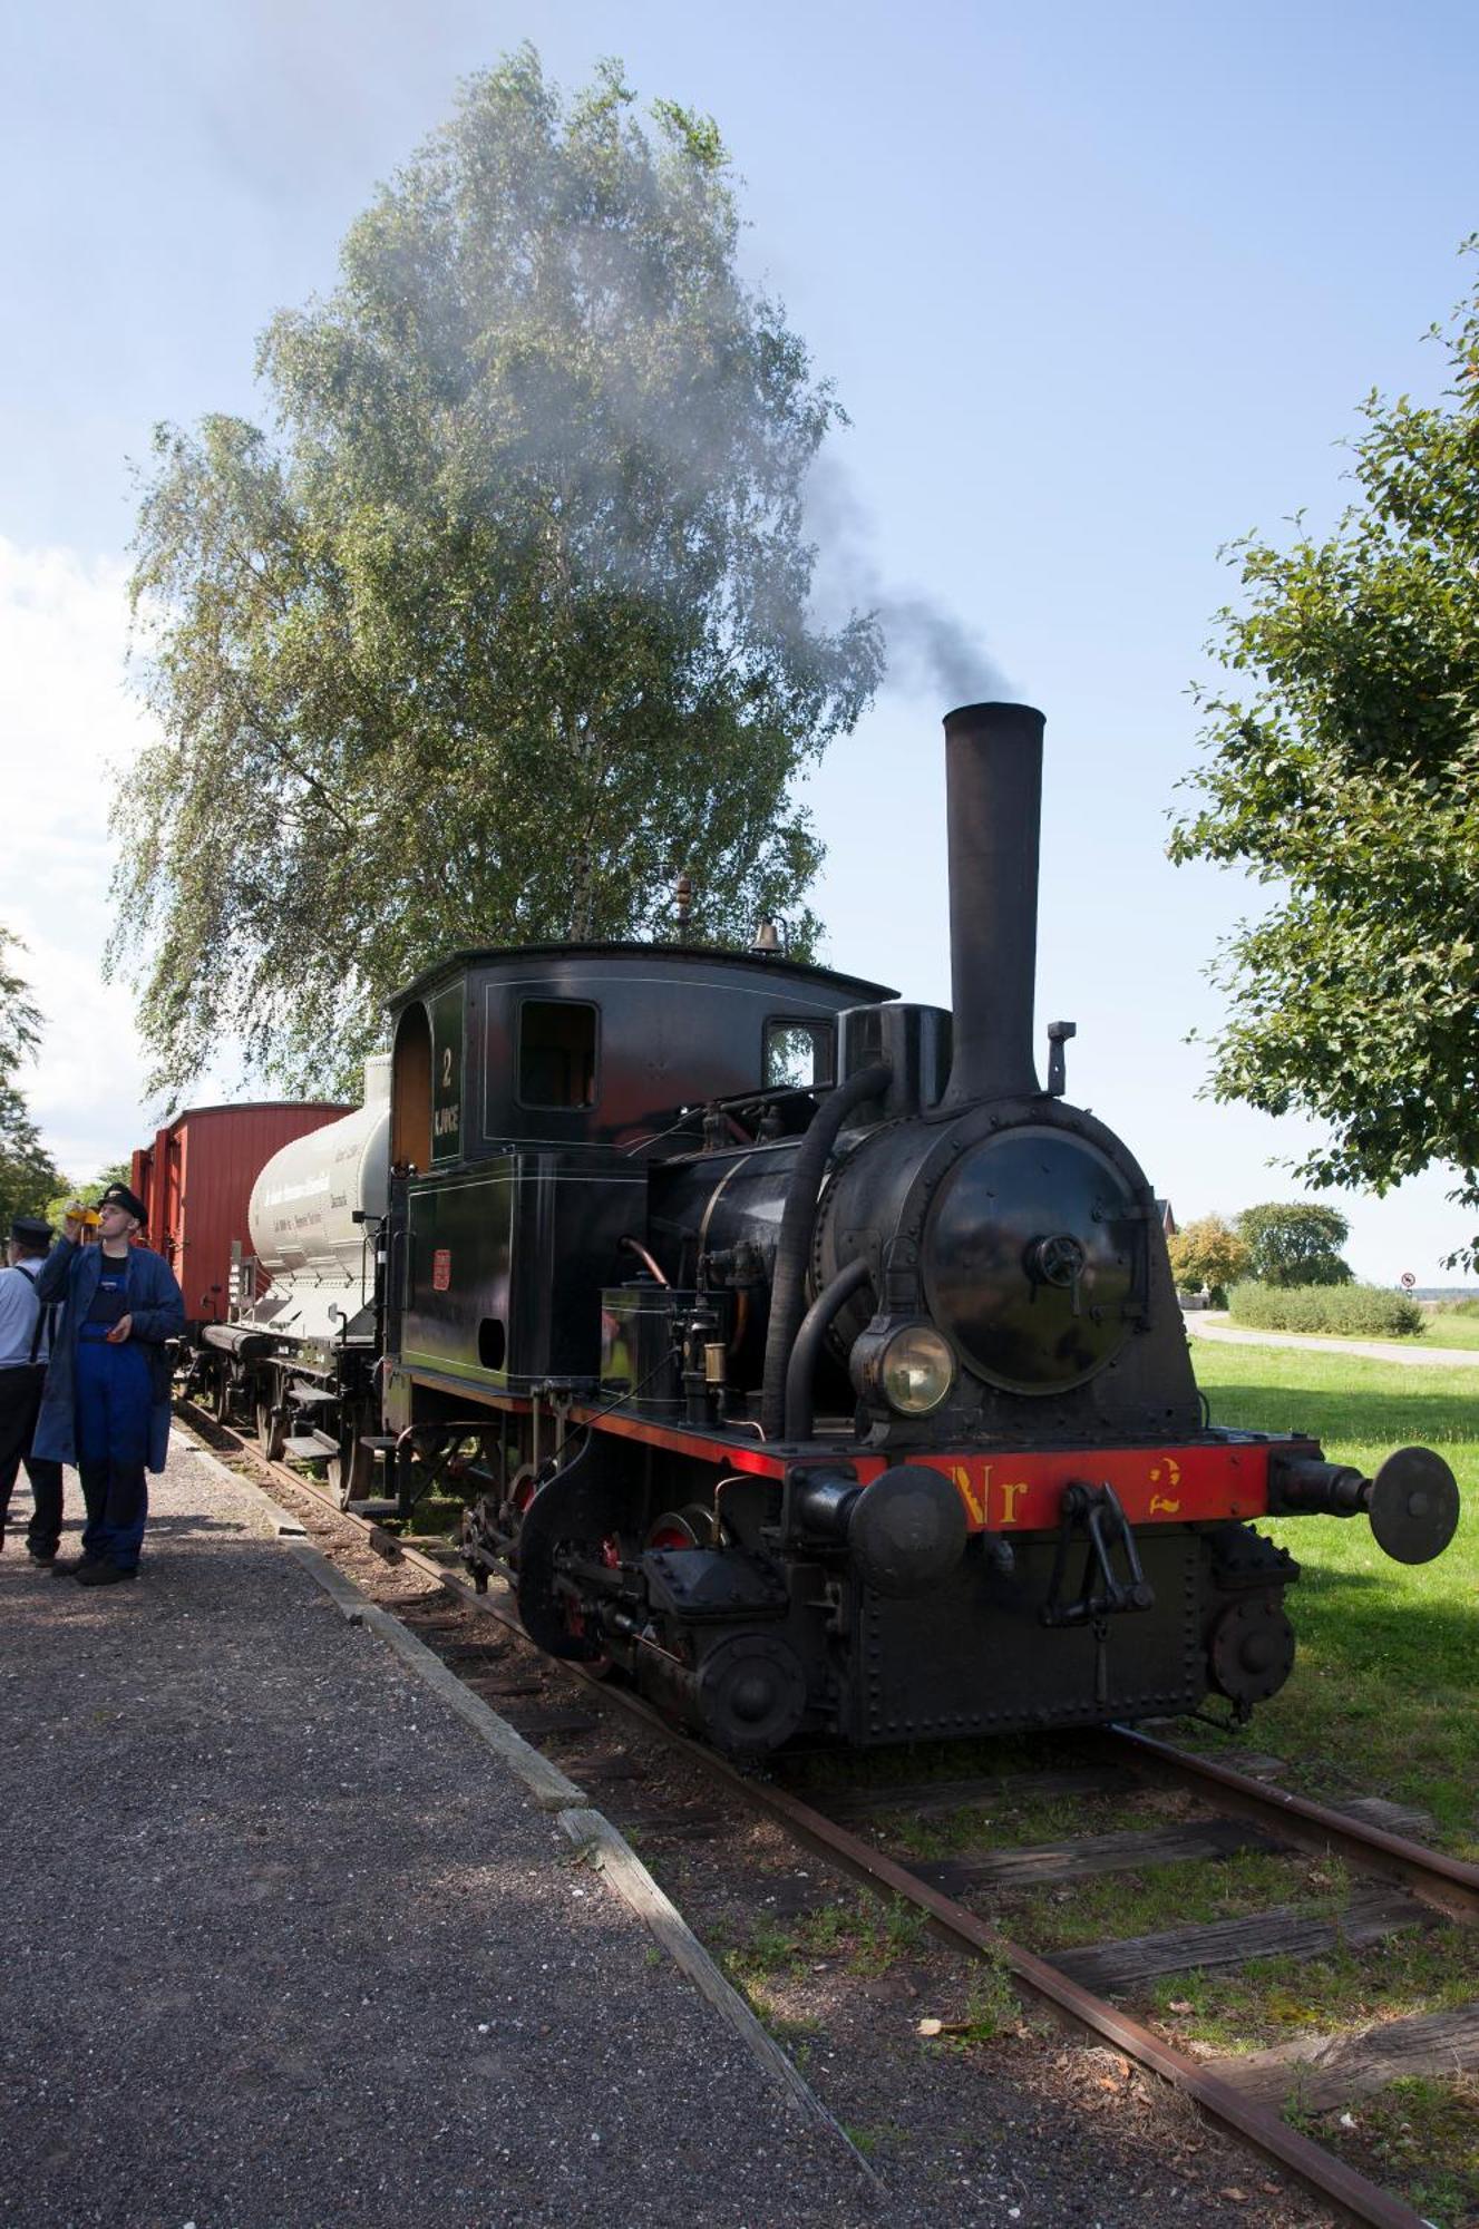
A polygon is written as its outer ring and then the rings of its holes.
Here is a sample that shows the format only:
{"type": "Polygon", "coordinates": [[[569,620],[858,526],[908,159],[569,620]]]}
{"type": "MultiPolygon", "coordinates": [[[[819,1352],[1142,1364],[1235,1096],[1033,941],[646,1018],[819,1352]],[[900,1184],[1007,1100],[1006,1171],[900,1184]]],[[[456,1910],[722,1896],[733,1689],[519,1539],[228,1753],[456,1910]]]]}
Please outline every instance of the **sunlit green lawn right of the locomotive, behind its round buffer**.
{"type": "Polygon", "coordinates": [[[1305,1431],[1368,1473],[1414,1442],[1452,1464],[1463,1513],[1437,1563],[1392,1563],[1365,1518],[1267,1527],[1303,1565],[1285,1598],[1299,1658],[1252,1745],[1290,1759],[1290,1785],[1421,1803],[1446,1848],[1479,1859],[1479,1362],[1412,1371],[1316,1342],[1192,1355],[1214,1424],[1305,1431]]]}

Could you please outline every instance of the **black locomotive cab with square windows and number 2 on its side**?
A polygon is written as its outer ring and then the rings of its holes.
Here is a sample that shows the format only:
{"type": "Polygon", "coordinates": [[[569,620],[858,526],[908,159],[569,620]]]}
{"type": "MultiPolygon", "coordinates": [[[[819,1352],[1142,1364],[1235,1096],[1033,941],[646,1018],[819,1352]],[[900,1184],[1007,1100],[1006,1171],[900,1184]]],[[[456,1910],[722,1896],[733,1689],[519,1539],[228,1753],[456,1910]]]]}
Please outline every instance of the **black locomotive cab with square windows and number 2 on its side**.
{"type": "Polygon", "coordinates": [[[762,1101],[811,1106],[838,1019],[880,996],[784,958],[646,945],[463,952],[412,983],[394,1023],[394,1375],[417,1395],[392,1415],[461,1386],[595,1391],[599,1293],[653,1259],[653,1159],[748,1137],[762,1101]]]}

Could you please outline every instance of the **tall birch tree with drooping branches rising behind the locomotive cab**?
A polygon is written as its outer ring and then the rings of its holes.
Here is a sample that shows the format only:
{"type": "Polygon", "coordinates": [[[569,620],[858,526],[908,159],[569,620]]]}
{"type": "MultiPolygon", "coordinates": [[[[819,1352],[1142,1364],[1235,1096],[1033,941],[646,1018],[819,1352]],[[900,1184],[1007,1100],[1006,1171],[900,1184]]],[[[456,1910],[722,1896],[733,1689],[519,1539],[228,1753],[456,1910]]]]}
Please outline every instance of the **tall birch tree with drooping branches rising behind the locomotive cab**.
{"type": "Polygon", "coordinates": [[[339,288],[258,352],[274,435],[160,428],[136,624],[165,740],[129,787],[114,963],[154,1088],[223,1032],[296,1088],[459,945],[784,914],[793,780],[853,727],[873,617],[813,624],[809,468],[840,419],[735,263],[713,123],[530,49],[470,80],[339,288]]]}

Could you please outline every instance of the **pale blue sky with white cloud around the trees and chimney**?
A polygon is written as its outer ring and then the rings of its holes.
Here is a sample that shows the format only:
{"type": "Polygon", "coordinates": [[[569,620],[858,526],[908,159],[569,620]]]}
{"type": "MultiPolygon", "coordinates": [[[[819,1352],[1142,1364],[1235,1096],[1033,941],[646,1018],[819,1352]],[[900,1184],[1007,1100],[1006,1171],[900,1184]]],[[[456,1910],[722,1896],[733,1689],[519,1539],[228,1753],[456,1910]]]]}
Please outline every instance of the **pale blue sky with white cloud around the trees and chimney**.
{"type": "MultiPolygon", "coordinates": [[[[1165,863],[1218,546],[1343,499],[1370,388],[1432,392],[1423,332],[1475,267],[1470,7],[588,7],[546,0],[60,7],[0,85],[0,722],[25,872],[0,918],[47,1010],[25,1079],[65,1166],[145,1135],[123,992],[98,983],[127,459],[156,419],[258,415],[254,341],[452,103],[532,38],[564,85],[711,111],[744,256],[851,430],[831,593],[918,595],[982,687],[1047,713],[1040,1023],[1071,1092],[1183,1217],[1290,1197],[1296,1126],[1196,1097],[1203,967],[1258,894],[1165,863]],[[98,1059],[98,1043],[109,1059],[98,1059]]],[[[942,687],[900,673],[811,782],[829,956],[947,999],[942,687]]],[[[229,1079],[227,1079],[229,1081],[229,1079]]],[[[1352,1215],[1359,1271],[1439,1277],[1468,1235],[1434,1172],[1352,1215]]]]}

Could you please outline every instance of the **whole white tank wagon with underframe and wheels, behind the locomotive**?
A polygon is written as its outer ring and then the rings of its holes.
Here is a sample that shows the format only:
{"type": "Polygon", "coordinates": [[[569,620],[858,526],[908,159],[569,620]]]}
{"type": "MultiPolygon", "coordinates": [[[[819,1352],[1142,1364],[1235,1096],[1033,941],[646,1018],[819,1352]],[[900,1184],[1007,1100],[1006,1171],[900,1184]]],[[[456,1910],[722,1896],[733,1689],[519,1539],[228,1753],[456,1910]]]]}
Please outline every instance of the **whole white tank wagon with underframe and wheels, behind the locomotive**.
{"type": "Polygon", "coordinates": [[[283,1146],[247,1201],[254,1264],[227,1324],[205,1324],[200,1375],[216,1415],[245,1415],[263,1451],[363,1491],[372,1431],[381,1230],[390,1193],[390,1059],[365,1063],[365,1103],[283,1146]],[[267,1279],[265,1288],[263,1277],[267,1279]]]}

